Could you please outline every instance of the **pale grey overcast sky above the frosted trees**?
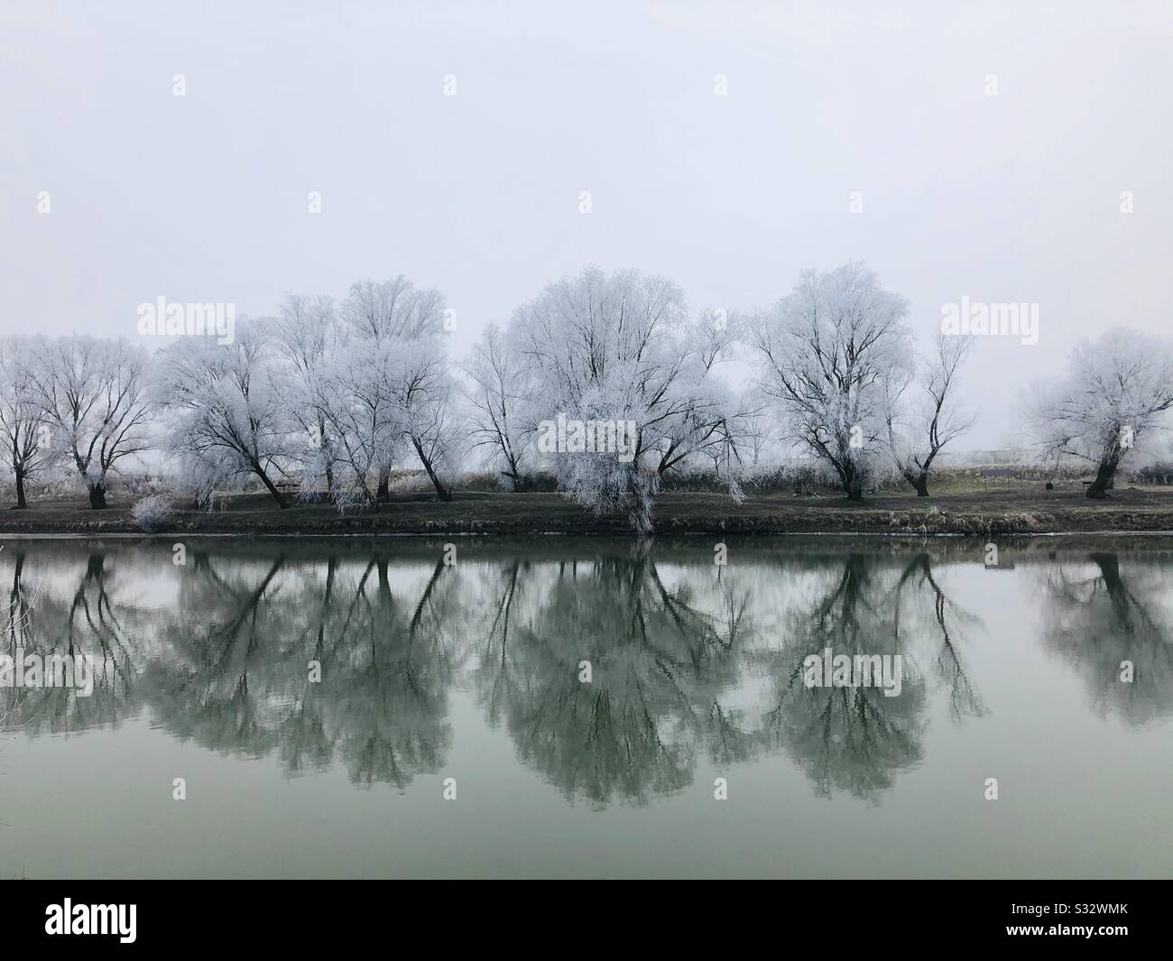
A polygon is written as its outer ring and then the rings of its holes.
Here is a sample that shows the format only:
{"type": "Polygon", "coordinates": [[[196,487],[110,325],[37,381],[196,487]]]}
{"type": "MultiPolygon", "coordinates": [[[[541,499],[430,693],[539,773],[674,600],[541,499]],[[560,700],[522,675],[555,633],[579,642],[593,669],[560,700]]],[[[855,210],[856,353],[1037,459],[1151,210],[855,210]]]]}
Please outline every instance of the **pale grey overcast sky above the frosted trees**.
{"type": "Polygon", "coordinates": [[[0,0],[0,123],[5,333],[402,272],[463,354],[586,264],[733,311],[862,259],[924,338],[1039,305],[968,370],[991,447],[1078,340],[1173,331],[1169,2],[0,0]]]}

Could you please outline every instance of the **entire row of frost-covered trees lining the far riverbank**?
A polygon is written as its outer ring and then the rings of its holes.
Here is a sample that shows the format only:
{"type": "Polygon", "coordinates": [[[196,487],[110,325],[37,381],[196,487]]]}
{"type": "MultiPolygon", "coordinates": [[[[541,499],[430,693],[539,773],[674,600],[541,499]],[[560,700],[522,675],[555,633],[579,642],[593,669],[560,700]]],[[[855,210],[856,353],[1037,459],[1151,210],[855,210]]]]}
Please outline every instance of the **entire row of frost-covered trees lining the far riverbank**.
{"type": "MultiPolygon", "coordinates": [[[[154,434],[202,501],[258,481],[285,507],[296,482],[378,510],[407,463],[449,500],[475,458],[515,489],[552,472],[568,496],[626,509],[647,530],[665,474],[707,465],[739,499],[767,438],[822,463],[849,499],[882,465],[925,496],[941,451],[974,422],[956,399],[972,340],[941,336],[917,358],[907,303],[857,263],[806,271],[772,307],[733,316],[690,313],[664,278],[591,268],[488,325],[460,365],[448,314],[438,291],[400,276],[355,283],[340,303],[291,295],[276,317],[242,320],[231,344],[182,337],[148,354],[81,336],[7,338],[0,458],[18,506],[29,479],[66,463],[104,507],[109,473],[154,434]],[[739,390],[721,374],[734,356],[757,372],[739,390]],[[632,446],[543,449],[558,415],[633,424],[632,446]]],[[[1093,463],[1089,495],[1101,496],[1171,408],[1168,346],[1114,330],[1031,393],[1028,426],[1042,454],[1093,463]]]]}

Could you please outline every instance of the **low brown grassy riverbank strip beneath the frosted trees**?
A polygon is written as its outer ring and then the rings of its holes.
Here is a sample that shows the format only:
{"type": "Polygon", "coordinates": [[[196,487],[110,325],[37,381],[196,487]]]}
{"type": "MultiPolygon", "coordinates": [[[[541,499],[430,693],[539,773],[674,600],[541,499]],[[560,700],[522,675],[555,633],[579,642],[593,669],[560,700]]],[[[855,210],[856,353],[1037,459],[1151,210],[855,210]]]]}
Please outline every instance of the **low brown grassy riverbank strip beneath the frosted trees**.
{"type": "MultiPolygon", "coordinates": [[[[190,503],[189,501],[179,503],[190,503]]],[[[138,534],[131,503],[91,510],[84,500],[34,502],[0,510],[0,534],[138,534]]],[[[835,496],[750,496],[734,503],[711,493],[663,493],[653,513],[660,534],[986,535],[1173,530],[1173,488],[1113,490],[1090,501],[1078,489],[1003,489],[915,498],[877,494],[861,503],[835,496]]],[[[264,535],[630,534],[624,514],[596,517],[558,494],[461,492],[450,502],[400,495],[378,512],[339,514],[328,505],[279,510],[267,496],[223,499],[216,510],[178,508],[161,533],[264,535]]]]}

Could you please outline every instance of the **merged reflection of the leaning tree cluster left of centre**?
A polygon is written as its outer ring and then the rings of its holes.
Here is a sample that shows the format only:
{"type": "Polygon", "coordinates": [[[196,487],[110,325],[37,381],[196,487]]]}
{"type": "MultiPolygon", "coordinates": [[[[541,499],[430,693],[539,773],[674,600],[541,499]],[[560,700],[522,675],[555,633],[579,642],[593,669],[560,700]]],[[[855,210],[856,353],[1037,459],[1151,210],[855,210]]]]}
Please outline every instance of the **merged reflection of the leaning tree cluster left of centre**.
{"type": "Polygon", "coordinates": [[[440,563],[422,589],[393,588],[382,555],[361,568],[330,556],[285,578],[283,555],[267,569],[217,567],[194,556],[179,607],[203,620],[169,622],[174,656],[147,671],[168,730],[217,750],[278,750],[290,772],[326,767],[337,754],[357,784],[402,789],[439,771],[454,666],[440,563]]]}

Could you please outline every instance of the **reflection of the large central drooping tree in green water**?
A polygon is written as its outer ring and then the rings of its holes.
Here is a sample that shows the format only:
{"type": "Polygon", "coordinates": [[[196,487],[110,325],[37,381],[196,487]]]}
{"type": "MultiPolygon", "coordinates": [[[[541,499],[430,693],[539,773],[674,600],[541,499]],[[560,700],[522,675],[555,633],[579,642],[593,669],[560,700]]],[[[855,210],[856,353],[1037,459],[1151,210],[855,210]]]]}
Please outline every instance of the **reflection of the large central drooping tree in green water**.
{"type": "Polygon", "coordinates": [[[646,544],[521,570],[501,580],[475,674],[526,764],[567,797],[644,804],[692,781],[698,742],[741,751],[719,704],[738,674],[739,613],[711,616],[670,590],[646,544]]]}

